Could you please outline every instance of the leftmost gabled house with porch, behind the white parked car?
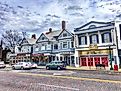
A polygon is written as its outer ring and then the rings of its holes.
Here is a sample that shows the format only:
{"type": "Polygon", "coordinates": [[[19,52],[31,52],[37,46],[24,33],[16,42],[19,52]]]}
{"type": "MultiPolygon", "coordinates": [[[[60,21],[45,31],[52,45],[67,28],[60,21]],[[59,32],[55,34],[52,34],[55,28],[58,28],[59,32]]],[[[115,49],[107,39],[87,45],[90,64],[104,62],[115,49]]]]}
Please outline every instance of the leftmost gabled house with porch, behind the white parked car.
{"type": "Polygon", "coordinates": [[[36,42],[36,36],[32,35],[32,38],[23,38],[20,44],[15,46],[15,53],[10,54],[11,64],[17,62],[32,61],[33,44],[36,42]]]}

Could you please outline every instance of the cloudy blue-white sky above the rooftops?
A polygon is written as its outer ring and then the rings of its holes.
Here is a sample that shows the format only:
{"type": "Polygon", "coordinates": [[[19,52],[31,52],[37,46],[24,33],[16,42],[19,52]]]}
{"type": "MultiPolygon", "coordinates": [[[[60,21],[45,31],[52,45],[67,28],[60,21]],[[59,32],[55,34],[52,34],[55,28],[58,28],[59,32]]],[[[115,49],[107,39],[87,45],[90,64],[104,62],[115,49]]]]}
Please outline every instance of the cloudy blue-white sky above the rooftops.
{"type": "Polygon", "coordinates": [[[112,21],[121,16],[121,0],[0,0],[0,30],[41,34],[52,27],[73,31],[91,20],[112,21]]]}

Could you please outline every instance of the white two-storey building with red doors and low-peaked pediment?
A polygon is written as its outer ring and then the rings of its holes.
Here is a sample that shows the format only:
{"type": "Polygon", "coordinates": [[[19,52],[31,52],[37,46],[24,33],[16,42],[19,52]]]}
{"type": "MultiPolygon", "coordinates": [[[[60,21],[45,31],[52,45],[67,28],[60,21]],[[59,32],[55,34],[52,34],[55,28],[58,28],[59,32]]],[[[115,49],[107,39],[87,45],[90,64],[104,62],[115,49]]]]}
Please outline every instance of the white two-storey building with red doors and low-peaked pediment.
{"type": "Polygon", "coordinates": [[[119,64],[114,23],[91,21],[75,28],[75,65],[119,64]]]}

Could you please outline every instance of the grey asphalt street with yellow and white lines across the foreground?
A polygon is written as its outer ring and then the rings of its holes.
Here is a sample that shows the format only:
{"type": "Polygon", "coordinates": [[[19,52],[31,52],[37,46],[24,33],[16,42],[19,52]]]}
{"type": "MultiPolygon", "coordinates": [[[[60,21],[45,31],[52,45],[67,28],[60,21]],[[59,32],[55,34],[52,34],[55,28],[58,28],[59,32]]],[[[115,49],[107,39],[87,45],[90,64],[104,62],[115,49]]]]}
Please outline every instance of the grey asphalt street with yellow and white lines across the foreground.
{"type": "Polygon", "coordinates": [[[120,91],[121,74],[70,70],[0,70],[0,91],[120,91]]]}

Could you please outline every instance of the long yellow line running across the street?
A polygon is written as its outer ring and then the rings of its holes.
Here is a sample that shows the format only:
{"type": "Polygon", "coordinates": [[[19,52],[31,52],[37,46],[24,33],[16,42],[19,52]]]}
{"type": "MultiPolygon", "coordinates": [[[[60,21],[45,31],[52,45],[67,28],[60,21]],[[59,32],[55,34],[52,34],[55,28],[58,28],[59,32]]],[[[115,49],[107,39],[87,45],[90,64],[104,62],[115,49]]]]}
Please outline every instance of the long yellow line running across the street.
{"type": "Polygon", "coordinates": [[[95,81],[95,82],[106,82],[106,83],[120,83],[121,81],[116,80],[103,80],[103,79],[96,79],[96,78],[79,78],[79,77],[69,77],[69,76],[53,76],[53,75],[46,75],[46,74],[33,74],[33,73],[18,73],[22,75],[30,75],[30,76],[41,76],[41,77],[53,77],[53,78],[63,78],[63,79],[73,79],[73,80],[86,80],[86,81],[95,81]]]}

